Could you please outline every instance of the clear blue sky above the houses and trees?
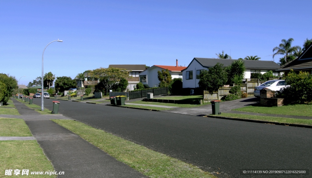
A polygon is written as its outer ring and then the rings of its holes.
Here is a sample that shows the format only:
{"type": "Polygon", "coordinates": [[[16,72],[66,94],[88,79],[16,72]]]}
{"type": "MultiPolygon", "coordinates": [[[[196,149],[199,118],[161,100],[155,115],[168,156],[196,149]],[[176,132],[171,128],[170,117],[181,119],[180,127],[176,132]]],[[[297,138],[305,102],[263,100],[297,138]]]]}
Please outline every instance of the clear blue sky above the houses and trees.
{"type": "MultiPolygon", "coordinates": [[[[312,1],[0,0],[0,73],[20,84],[44,73],[75,78],[110,64],[187,66],[224,50],[272,60],[282,39],[311,39],[312,1]]],[[[281,56],[275,57],[275,62],[281,56]]]]}

